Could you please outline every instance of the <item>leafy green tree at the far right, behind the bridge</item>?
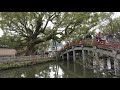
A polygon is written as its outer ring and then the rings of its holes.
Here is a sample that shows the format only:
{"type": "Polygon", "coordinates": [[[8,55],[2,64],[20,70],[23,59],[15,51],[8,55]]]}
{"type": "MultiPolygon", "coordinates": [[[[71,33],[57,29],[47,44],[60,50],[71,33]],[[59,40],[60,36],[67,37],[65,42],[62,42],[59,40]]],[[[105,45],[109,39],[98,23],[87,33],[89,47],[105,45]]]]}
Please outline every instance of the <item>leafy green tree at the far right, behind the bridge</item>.
{"type": "Polygon", "coordinates": [[[104,35],[111,36],[114,41],[120,41],[120,17],[109,17],[107,24],[101,25],[100,30],[104,35]]]}

